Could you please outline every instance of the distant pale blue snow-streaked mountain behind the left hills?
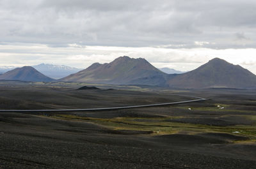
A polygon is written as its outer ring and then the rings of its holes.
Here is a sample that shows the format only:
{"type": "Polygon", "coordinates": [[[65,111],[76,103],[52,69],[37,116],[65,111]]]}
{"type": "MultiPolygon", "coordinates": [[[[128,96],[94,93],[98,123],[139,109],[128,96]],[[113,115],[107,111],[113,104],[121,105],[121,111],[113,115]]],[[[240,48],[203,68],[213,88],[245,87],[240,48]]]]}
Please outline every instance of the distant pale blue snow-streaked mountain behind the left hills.
{"type": "Polygon", "coordinates": [[[38,64],[32,67],[42,72],[44,75],[51,78],[56,78],[56,79],[67,77],[72,73],[77,73],[78,71],[81,71],[81,69],[71,68],[65,65],[44,64],[44,63],[38,64]]]}

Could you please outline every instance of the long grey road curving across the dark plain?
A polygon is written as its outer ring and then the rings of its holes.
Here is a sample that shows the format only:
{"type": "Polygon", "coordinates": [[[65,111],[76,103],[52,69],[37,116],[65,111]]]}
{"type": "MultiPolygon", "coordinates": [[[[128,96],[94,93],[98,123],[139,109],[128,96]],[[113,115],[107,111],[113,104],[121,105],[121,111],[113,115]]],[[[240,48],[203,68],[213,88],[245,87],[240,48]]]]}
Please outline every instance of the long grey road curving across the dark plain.
{"type": "Polygon", "coordinates": [[[197,98],[187,101],[177,101],[172,103],[157,103],[151,105],[137,105],[137,106],[127,106],[127,107],[107,107],[107,108],[77,108],[77,109],[49,109],[49,110],[0,110],[0,112],[86,112],[86,111],[101,111],[101,110],[118,110],[118,109],[127,109],[127,108],[140,108],[140,107],[157,107],[164,105],[176,105],[180,103],[190,103],[196,101],[207,100],[205,98],[198,98],[195,96],[190,96],[191,98],[197,98]]]}

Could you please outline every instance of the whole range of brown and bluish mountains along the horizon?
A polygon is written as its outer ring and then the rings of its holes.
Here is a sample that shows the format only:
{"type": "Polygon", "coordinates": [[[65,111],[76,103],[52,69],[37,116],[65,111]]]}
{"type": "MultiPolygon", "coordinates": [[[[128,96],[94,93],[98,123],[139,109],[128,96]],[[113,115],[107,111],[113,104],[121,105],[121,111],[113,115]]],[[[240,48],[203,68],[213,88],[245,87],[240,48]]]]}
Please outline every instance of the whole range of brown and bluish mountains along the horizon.
{"type": "MultiPolygon", "coordinates": [[[[46,65],[46,66],[45,66],[46,65]]],[[[40,64],[42,68],[47,64],[40,64]]],[[[38,69],[40,68],[38,66],[38,69]]],[[[49,64],[45,71],[54,67],[49,64]]],[[[54,68],[53,70],[56,70],[54,68]]],[[[65,70],[65,67],[59,68],[65,70]]],[[[67,68],[70,71],[70,68],[67,68]]],[[[75,71],[76,69],[74,69],[75,71]]],[[[67,72],[66,72],[67,73],[67,72]]],[[[22,80],[31,82],[51,82],[31,66],[10,70],[0,75],[0,80],[22,80]]],[[[112,62],[93,63],[88,68],[60,78],[64,82],[90,82],[98,84],[154,85],[182,89],[202,89],[212,87],[253,88],[256,89],[256,75],[239,65],[214,58],[193,71],[182,74],[168,74],[158,70],[143,58],[118,57],[112,62]]]]}

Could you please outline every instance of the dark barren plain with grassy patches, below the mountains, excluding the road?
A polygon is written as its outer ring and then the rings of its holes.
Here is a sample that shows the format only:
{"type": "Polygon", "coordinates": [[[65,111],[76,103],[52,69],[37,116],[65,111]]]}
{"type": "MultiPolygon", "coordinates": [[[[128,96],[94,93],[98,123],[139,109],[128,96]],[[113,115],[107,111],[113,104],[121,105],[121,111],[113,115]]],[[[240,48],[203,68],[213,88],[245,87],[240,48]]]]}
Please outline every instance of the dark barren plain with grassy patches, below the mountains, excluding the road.
{"type": "Polygon", "coordinates": [[[83,85],[3,81],[0,108],[119,107],[189,96],[209,100],[100,112],[0,112],[0,168],[256,166],[256,91],[117,85],[76,90],[83,85]]]}

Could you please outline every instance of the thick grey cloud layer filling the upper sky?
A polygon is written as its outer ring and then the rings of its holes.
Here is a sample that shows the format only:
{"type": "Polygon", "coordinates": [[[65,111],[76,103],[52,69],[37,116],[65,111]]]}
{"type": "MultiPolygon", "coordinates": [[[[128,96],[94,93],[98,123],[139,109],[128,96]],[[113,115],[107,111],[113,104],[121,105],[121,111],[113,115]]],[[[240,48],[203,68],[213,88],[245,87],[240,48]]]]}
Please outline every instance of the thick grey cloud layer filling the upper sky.
{"type": "Polygon", "coordinates": [[[0,0],[0,35],[54,47],[255,48],[255,8],[250,0],[0,0]]]}

